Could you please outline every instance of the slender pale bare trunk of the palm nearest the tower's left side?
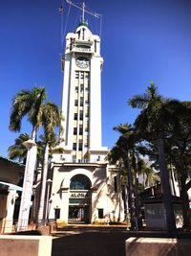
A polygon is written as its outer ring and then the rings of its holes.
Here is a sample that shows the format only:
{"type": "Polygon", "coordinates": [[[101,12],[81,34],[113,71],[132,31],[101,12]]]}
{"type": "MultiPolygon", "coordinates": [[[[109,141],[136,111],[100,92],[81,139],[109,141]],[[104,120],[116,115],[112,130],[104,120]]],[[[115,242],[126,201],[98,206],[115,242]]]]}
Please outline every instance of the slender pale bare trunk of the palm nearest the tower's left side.
{"type": "MultiPolygon", "coordinates": [[[[44,154],[44,162],[42,168],[42,178],[41,178],[41,194],[40,194],[40,202],[38,209],[38,225],[44,221],[45,209],[45,195],[46,195],[46,182],[47,182],[47,174],[48,174],[48,165],[49,165],[49,144],[46,144],[45,154],[44,154]]],[[[46,220],[45,220],[46,221],[46,220]]]]}

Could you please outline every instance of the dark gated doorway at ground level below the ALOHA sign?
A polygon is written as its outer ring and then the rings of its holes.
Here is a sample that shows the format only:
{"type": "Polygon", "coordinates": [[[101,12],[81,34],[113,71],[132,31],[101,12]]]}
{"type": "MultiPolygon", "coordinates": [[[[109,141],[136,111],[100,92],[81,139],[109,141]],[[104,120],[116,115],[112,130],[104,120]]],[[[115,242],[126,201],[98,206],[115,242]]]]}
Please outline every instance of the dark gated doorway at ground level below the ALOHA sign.
{"type": "Polygon", "coordinates": [[[89,209],[89,205],[70,205],[69,223],[88,223],[89,209]]]}

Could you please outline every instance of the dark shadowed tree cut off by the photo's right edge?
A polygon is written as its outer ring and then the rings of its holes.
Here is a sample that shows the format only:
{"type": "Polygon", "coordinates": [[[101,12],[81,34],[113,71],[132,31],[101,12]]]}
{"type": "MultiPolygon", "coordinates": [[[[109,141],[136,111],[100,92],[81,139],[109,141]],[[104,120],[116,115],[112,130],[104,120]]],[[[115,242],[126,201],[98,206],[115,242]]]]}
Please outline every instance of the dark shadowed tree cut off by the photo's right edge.
{"type": "Polygon", "coordinates": [[[191,168],[191,102],[182,102],[176,107],[171,122],[173,135],[168,139],[166,148],[169,152],[169,165],[175,168],[180,184],[180,198],[183,215],[183,227],[190,227],[190,209],[188,190],[191,181],[187,182],[191,168]]]}

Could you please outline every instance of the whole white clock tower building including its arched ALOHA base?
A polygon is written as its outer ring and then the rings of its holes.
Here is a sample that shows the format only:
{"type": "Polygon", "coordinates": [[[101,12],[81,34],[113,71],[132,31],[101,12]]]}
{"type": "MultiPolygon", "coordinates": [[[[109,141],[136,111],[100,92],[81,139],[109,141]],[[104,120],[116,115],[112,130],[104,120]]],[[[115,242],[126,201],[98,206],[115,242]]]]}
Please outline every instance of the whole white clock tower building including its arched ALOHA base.
{"type": "Polygon", "coordinates": [[[100,38],[82,22],[66,36],[60,134],[63,153],[52,159],[49,219],[65,223],[123,221],[118,170],[101,146],[100,38]]]}

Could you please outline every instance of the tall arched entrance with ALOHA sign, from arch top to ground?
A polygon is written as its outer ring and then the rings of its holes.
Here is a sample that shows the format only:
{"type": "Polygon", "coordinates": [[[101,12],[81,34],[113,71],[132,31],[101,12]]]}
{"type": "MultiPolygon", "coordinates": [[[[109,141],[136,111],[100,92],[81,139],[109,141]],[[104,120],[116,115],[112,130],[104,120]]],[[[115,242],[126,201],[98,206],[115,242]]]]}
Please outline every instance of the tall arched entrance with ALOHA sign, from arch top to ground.
{"type": "Polygon", "coordinates": [[[74,175],[70,183],[69,223],[89,223],[91,181],[86,175],[74,175]]]}

